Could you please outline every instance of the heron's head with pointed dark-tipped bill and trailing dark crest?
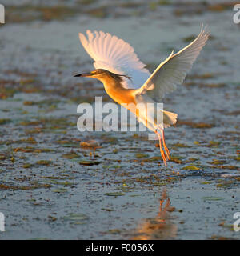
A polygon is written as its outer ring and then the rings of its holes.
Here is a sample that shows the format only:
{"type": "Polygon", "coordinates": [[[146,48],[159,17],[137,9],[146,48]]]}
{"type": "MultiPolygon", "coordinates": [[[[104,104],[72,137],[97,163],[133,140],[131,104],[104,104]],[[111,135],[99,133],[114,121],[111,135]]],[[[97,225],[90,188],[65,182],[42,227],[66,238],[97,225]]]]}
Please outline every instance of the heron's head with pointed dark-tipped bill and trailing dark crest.
{"type": "Polygon", "coordinates": [[[97,70],[91,71],[90,73],[76,74],[74,75],[74,77],[97,78],[102,82],[104,82],[104,80],[106,79],[111,79],[120,83],[122,83],[124,77],[130,79],[130,77],[127,76],[126,74],[115,74],[108,70],[103,70],[103,69],[97,69],[97,70]]]}

